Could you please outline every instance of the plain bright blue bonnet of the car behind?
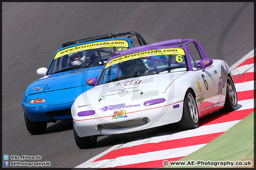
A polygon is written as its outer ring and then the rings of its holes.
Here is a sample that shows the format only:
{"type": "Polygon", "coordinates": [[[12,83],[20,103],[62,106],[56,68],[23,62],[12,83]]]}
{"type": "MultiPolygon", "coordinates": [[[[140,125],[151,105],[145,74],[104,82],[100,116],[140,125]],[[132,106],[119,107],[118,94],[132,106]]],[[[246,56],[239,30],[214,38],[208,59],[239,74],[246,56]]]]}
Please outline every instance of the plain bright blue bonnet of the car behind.
{"type": "Polygon", "coordinates": [[[102,68],[103,66],[89,67],[44,76],[33,82],[30,95],[72,87],[88,86],[86,80],[100,75],[102,68]]]}

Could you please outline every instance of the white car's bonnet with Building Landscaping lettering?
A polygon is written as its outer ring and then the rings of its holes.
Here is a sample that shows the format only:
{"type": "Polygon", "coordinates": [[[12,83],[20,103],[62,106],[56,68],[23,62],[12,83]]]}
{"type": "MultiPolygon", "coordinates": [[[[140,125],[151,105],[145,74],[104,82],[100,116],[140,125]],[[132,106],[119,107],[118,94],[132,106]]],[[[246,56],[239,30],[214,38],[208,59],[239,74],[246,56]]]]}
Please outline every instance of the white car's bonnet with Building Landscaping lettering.
{"type": "Polygon", "coordinates": [[[95,86],[80,95],[78,107],[110,103],[116,100],[132,101],[137,98],[164,93],[167,87],[184,72],[149,75],[95,86]]]}

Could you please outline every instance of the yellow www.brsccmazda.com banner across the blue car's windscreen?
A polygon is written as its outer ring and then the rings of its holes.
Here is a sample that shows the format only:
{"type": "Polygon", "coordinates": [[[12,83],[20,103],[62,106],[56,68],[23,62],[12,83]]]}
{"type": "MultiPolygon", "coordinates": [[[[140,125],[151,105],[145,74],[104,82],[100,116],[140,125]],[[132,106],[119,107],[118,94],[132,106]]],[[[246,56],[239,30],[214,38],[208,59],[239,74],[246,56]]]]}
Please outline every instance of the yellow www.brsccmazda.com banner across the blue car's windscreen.
{"type": "Polygon", "coordinates": [[[85,51],[90,49],[99,49],[104,47],[127,47],[128,48],[129,44],[126,40],[118,40],[118,41],[109,40],[109,41],[98,41],[98,42],[92,42],[89,44],[77,45],[74,47],[70,47],[70,48],[58,51],[53,60],[73,52],[85,51]]]}

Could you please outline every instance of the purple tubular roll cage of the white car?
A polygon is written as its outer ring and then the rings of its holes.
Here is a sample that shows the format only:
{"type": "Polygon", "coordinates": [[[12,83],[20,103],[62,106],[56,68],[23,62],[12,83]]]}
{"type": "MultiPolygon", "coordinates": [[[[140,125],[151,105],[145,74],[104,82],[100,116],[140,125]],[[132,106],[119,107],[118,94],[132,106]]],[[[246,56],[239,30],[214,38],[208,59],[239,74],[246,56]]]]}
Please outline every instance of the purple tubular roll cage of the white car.
{"type": "MultiPolygon", "coordinates": [[[[194,39],[173,39],[173,40],[166,40],[166,41],[161,41],[161,42],[155,42],[153,44],[148,44],[148,45],[143,45],[143,46],[138,46],[138,47],[133,47],[133,48],[130,48],[130,49],[127,49],[127,50],[120,50],[120,51],[117,51],[117,52],[114,52],[112,54],[112,57],[110,59],[108,59],[108,61],[106,63],[108,63],[110,60],[112,60],[113,58],[117,58],[117,57],[120,57],[122,55],[127,55],[129,53],[135,53],[135,52],[140,52],[140,51],[144,51],[144,50],[147,50],[146,48],[151,48],[151,47],[165,47],[165,46],[172,46],[172,47],[182,47],[183,50],[186,51],[186,53],[188,54],[188,48],[187,48],[187,45],[193,43],[194,44],[194,47],[196,48],[196,51],[197,51],[197,54],[200,58],[200,60],[203,60],[203,57],[200,53],[200,50],[204,56],[204,58],[208,58],[208,56],[206,55],[205,51],[203,50],[203,47],[201,46],[201,44],[194,40],[194,39]],[[185,43],[184,45],[181,45],[182,43],[185,43]],[[177,46],[178,45],[178,46],[177,46]],[[184,48],[185,47],[185,48],[184,48]],[[198,49],[199,47],[199,49],[198,49]]],[[[154,58],[153,59],[153,56],[150,56],[150,57],[143,57],[145,59],[148,59],[148,60],[151,60],[152,63],[153,63],[153,67],[155,69],[156,72],[158,72],[158,69],[156,68],[156,65],[155,65],[155,61],[162,61],[162,62],[168,62],[169,65],[168,67],[171,67],[171,63],[173,64],[177,64],[177,62],[174,62],[174,61],[171,61],[171,59],[169,58],[169,61],[168,60],[163,60],[163,59],[158,59],[158,58],[154,58]]],[[[192,64],[191,64],[191,61],[190,61],[190,57],[186,57],[187,58],[187,63],[188,63],[188,68],[189,70],[193,70],[192,69],[192,64]]],[[[184,64],[184,63],[178,63],[180,65],[184,64]]],[[[111,66],[110,66],[111,67],[111,66]]],[[[105,67],[104,67],[105,68],[105,67]]],[[[104,70],[104,68],[102,69],[102,71],[104,70]]],[[[171,70],[168,70],[168,72],[170,73],[171,70]]],[[[119,73],[119,68],[117,68],[117,71],[116,71],[116,77],[118,77],[118,73],[119,73]]],[[[110,72],[108,72],[108,76],[107,76],[107,81],[110,79],[110,72]]],[[[97,80],[97,83],[98,84],[98,80],[97,80]]]]}

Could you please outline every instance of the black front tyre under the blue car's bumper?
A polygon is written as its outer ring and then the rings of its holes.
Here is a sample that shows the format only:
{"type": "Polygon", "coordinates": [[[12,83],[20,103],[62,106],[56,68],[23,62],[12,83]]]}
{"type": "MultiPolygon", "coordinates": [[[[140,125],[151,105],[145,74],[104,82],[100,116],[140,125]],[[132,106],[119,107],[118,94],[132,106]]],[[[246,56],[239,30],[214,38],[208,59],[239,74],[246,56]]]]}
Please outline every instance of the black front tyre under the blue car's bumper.
{"type": "Polygon", "coordinates": [[[43,133],[46,130],[47,122],[44,121],[30,121],[24,113],[25,124],[28,132],[32,135],[43,133]]]}

